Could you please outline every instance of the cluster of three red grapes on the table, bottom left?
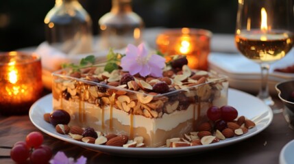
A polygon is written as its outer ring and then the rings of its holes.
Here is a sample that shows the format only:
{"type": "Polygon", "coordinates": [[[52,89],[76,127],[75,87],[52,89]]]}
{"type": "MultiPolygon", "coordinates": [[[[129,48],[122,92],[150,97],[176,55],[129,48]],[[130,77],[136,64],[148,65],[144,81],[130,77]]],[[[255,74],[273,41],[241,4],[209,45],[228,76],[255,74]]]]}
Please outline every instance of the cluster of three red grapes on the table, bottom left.
{"type": "Polygon", "coordinates": [[[25,141],[14,143],[10,157],[16,163],[48,163],[52,156],[51,148],[42,145],[44,138],[40,132],[27,135],[25,141]]]}

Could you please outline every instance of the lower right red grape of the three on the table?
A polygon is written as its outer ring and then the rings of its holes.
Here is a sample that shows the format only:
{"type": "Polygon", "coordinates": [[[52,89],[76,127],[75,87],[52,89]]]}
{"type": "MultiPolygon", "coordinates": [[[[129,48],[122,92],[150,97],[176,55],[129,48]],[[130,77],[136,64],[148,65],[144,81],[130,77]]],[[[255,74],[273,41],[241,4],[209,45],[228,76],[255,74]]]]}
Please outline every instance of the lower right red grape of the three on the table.
{"type": "Polygon", "coordinates": [[[35,149],[31,156],[30,161],[31,163],[48,163],[51,159],[52,152],[50,148],[45,146],[40,146],[39,148],[35,149]]]}

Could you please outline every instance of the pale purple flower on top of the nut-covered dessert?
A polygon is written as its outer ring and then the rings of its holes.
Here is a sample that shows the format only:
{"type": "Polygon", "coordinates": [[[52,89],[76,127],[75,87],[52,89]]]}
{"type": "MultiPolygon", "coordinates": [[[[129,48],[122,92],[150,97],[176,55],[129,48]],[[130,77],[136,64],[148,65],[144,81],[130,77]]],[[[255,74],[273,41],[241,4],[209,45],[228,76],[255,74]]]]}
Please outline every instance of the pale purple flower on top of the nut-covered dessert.
{"type": "Polygon", "coordinates": [[[121,67],[124,71],[134,75],[139,73],[142,77],[151,75],[162,77],[162,69],[165,66],[165,58],[160,55],[149,55],[144,43],[127,45],[126,55],[121,58],[121,67]]]}

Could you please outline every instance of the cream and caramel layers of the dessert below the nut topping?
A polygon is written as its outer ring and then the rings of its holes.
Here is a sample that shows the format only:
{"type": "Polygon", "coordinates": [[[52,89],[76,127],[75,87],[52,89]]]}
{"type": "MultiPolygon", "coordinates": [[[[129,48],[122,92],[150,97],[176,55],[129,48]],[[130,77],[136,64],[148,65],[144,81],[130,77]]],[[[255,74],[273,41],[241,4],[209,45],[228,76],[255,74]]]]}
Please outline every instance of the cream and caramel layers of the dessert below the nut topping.
{"type": "Polygon", "coordinates": [[[197,124],[206,121],[204,115],[210,106],[221,107],[226,102],[226,96],[220,96],[211,103],[193,103],[186,110],[164,113],[161,118],[146,118],[110,105],[102,109],[89,102],[62,98],[53,99],[53,109],[67,111],[71,115],[70,125],[92,127],[105,134],[125,134],[130,138],[142,136],[146,146],[158,147],[164,145],[166,139],[195,131],[197,124]]]}

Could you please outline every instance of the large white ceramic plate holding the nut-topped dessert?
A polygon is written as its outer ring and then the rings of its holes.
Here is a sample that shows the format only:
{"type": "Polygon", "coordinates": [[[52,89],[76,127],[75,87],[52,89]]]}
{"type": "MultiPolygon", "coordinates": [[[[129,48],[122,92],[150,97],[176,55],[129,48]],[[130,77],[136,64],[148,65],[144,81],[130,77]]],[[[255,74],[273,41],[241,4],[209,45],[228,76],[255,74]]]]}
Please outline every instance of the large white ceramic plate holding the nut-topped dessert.
{"type": "Polygon", "coordinates": [[[61,135],[57,133],[55,128],[51,124],[45,122],[43,119],[44,113],[50,113],[52,111],[51,94],[40,98],[40,100],[32,105],[31,109],[29,110],[29,118],[31,119],[32,123],[40,129],[40,131],[43,131],[52,137],[56,137],[63,141],[67,141],[90,150],[106,152],[108,154],[114,154],[118,156],[162,157],[171,155],[186,155],[228,146],[232,143],[236,143],[238,141],[252,137],[269,126],[273,119],[273,113],[271,109],[267,107],[267,105],[265,105],[261,100],[250,94],[246,94],[245,92],[233,89],[229,89],[228,95],[228,105],[236,107],[236,109],[238,109],[239,115],[245,115],[250,120],[256,122],[256,127],[250,129],[249,132],[245,135],[233,137],[231,139],[225,139],[224,141],[219,141],[218,143],[212,143],[206,146],[191,146],[183,148],[122,148],[115,146],[100,146],[90,143],[83,143],[82,141],[75,141],[67,135],[61,135]]]}

